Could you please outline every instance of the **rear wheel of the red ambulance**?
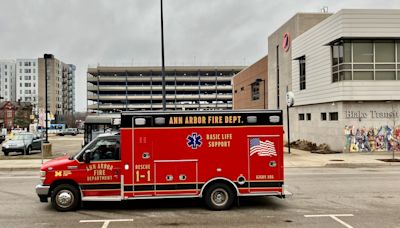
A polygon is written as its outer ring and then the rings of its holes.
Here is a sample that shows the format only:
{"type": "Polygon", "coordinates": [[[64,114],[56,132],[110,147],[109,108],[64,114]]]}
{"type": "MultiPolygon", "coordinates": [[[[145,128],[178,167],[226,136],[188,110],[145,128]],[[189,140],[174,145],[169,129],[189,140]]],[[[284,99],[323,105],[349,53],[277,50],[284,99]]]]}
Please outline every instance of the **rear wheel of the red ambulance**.
{"type": "Polygon", "coordinates": [[[211,184],[203,195],[207,207],[211,210],[227,210],[232,207],[236,194],[224,183],[211,184]]]}

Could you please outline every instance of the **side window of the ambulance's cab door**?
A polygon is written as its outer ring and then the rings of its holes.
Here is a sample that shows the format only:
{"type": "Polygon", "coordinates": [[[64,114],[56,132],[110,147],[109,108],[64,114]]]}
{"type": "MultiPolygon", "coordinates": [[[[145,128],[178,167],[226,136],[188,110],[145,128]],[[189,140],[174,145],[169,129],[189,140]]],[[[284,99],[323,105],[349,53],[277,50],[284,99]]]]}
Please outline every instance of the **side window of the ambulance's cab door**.
{"type": "Polygon", "coordinates": [[[120,145],[116,139],[100,139],[89,149],[91,161],[120,160],[120,145]]]}

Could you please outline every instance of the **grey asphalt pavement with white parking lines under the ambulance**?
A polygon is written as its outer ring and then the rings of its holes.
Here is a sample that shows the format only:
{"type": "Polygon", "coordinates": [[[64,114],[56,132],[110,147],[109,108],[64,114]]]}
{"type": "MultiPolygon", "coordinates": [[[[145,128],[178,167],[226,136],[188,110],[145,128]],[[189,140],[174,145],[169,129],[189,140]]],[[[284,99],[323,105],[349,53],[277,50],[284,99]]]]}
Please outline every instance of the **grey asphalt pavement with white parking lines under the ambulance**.
{"type": "Polygon", "coordinates": [[[228,211],[200,199],[85,203],[57,212],[40,203],[35,171],[0,171],[0,227],[400,227],[400,166],[286,168],[293,196],[242,198],[228,211]]]}

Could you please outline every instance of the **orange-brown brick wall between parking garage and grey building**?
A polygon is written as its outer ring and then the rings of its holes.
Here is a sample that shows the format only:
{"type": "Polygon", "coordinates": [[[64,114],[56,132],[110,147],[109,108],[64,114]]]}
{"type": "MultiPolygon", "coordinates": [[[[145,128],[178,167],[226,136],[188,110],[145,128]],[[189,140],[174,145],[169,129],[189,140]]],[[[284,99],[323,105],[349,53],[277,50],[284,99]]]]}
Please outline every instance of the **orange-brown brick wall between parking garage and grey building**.
{"type": "Polygon", "coordinates": [[[233,79],[233,109],[268,107],[268,56],[243,69],[233,79]]]}

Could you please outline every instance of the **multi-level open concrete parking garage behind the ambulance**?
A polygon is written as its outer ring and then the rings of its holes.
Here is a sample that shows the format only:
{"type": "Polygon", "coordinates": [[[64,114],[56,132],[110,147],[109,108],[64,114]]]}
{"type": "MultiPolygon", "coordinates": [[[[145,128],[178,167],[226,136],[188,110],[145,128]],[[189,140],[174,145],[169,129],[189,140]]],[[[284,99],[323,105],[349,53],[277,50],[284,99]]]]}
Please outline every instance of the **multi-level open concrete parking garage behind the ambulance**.
{"type": "MultiPolygon", "coordinates": [[[[232,77],[242,66],[168,66],[166,107],[169,110],[232,109],[232,77]]],[[[162,109],[160,67],[88,69],[88,111],[162,109]]]]}

